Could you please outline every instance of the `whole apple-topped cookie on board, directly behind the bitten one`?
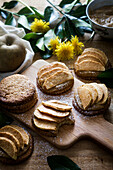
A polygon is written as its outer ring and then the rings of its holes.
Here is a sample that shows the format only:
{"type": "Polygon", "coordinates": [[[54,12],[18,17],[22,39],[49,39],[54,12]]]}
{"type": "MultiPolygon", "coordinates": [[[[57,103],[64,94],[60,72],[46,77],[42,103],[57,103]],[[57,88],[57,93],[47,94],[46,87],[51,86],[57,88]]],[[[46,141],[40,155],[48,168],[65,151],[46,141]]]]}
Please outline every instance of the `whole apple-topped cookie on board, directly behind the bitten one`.
{"type": "Polygon", "coordinates": [[[74,83],[70,70],[62,62],[44,65],[37,75],[38,87],[47,94],[61,94],[72,88],[74,83]]]}

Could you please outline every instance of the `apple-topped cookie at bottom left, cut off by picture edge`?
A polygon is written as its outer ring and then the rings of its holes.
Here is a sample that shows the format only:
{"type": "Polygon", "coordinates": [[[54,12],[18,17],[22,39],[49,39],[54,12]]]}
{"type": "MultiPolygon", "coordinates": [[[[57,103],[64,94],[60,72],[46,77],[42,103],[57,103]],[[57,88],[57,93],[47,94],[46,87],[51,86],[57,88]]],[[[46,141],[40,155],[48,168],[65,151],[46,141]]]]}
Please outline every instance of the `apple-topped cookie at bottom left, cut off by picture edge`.
{"type": "Polygon", "coordinates": [[[32,136],[17,125],[0,129],[0,161],[17,164],[26,160],[33,151],[32,136]]]}

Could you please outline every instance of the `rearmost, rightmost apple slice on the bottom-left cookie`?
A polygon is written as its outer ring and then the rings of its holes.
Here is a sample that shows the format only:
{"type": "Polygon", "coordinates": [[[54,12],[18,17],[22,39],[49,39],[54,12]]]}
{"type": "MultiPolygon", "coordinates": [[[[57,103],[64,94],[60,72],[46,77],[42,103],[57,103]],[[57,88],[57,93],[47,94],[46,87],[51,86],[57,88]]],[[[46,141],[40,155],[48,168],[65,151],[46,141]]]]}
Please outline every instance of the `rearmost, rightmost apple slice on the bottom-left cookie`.
{"type": "Polygon", "coordinates": [[[28,145],[29,144],[29,135],[26,133],[26,131],[23,128],[21,128],[20,126],[17,126],[17,125],[10,125],[10,126],[17,129],[21,133],[23,140],[24,140],[24,144],[28,145]]]}

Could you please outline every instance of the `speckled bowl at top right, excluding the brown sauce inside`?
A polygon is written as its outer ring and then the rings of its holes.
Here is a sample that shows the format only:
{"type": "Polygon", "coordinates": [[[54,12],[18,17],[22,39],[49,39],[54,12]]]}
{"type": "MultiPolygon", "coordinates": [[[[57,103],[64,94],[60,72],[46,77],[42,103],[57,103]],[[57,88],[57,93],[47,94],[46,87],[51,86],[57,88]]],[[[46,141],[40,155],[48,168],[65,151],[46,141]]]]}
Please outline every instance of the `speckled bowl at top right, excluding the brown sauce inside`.
{"type": "Polygon", "coordinates": [[[113,0],[93,0],[87,5],[86,15],[88,16],[89,22],[96,33],[98,33],[102,37],[113,39],[113,27],[107,27],[97,24],[90,18],[89,15],[91,11],[109,5],[113,5],[113,0]]]}

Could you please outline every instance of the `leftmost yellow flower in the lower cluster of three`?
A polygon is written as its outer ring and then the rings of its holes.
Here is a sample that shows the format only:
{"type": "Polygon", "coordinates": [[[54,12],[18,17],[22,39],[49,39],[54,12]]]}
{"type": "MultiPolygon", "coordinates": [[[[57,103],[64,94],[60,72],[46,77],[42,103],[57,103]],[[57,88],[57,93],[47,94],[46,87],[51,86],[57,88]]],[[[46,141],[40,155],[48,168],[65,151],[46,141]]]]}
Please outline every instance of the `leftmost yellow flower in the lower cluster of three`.
{"type": "Polygon", "coordinates": [[[59,45],[58,36],[55,39],[50,39],[50,43],[48,45],[50,50],[53,50],[53,54],[55,55],[56,46],[59,45]]]}

